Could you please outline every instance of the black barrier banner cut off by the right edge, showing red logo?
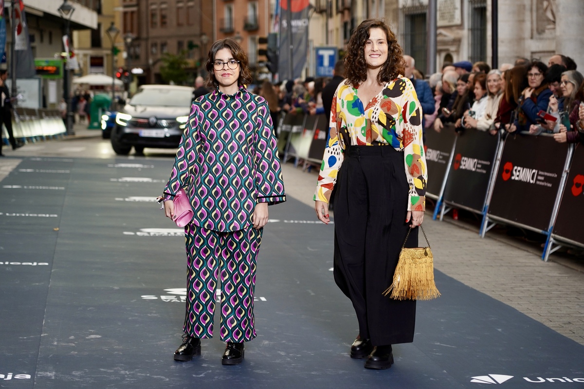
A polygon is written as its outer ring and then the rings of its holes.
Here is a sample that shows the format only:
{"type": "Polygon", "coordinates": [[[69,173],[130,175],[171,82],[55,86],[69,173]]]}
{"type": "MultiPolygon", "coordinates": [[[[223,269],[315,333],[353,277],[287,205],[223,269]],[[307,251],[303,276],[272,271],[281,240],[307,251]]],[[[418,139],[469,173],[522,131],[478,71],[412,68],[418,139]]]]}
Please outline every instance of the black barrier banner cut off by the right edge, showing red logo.
{"type": "Polygon", "coordinates": [[[559,237],[584,244],[584,146],[574,150],[568,181],[564,188],[562,202],[559,204],[553,233],[559,237]]]}

